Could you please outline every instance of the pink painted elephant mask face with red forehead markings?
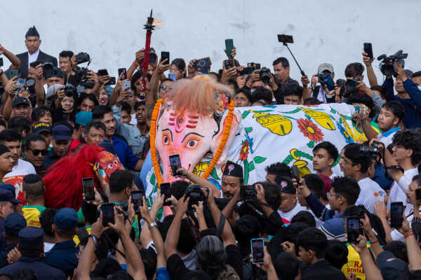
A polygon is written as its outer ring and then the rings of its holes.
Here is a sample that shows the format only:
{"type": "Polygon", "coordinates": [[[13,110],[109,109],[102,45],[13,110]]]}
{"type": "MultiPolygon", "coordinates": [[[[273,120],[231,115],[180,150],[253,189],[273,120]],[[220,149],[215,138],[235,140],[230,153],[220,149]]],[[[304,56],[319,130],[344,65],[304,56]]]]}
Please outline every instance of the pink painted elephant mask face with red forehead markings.
{"type": "MultiPolygon", "coordinates": [[[[180,155],[182,167],[189,172],[192,172],[206,153],[211,152],[215,155],[227,125],[227,115],[228,111],[216,112],[213,116],[188,111],[175,112],[168,104],[165,106],[157,121],[155,141],[162,161],[164,181],[174,181],[168,158],[170,155],[180,155]]],[[[234,115],[227,144],[218,163],[225,160],[227,148],[239,125],[238,119],[239,116],[234,115]]]]}

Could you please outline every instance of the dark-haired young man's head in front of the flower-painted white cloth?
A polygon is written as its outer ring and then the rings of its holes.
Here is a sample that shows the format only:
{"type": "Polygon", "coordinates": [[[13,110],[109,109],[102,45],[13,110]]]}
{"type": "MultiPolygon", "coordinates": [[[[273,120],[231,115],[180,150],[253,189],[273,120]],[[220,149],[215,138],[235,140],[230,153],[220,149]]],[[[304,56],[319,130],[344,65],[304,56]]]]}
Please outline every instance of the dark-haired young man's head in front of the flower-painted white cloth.
{"type": "Polygon", "coordinates": [[[332,143],[324,141],[317,144],[313,148],[313,169],[333,180],[336,175],[332,172],[332,166],[338,156],[338,149],[332,143]]]}

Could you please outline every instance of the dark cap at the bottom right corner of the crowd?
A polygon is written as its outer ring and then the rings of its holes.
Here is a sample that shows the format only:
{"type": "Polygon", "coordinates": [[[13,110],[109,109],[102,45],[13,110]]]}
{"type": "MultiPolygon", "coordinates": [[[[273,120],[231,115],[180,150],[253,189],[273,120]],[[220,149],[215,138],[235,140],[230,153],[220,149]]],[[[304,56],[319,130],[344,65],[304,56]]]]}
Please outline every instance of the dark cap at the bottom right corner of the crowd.
{"type": "Polygon", "coordinates": [[[380,255],[377,255],[376,262],[385,280],[404,279],[409,272],[408,264],[396,258],[390,251],[382,251],[380,255]]]}

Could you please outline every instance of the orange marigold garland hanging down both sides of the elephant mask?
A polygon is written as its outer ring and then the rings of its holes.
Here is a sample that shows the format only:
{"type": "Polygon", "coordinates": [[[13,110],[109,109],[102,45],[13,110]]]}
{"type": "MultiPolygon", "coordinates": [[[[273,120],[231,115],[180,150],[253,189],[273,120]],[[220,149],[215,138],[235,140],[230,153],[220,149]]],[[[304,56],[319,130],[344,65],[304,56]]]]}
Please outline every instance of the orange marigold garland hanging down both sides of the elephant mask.
{"type": "MultiPolygon", "coordinates": [[[[155,133],[156,133],[156,120],[158,119],[161,103],[162,103],[162,99],[158,99],[156,101],[154,111],[152,112],[151,129],[149,133],[152,165],[154,165],[154,172],[156,176],[156,181],[158,181],[159,188],[161,188],[161,183],[163,182],[163,180],[162,180],[161,171],[159,170],[159,162],[156,158],[155,133]]],[[[231,100],[228,106],[229,111],[228,111],[228,116],[227,116],[227,126],[224,128],[224,132],[222,133],[222,140],[221,140],[220,146],[218,147],[218,150],[216,150],[215,155],[213,155],[213,159],[208,165],[208,168],[206,168],[205,172],[203,172],[203,174],[201,175],[201,178],[203,179],[208,178],[208,176],[210,175],[210,172],[212,172],[220,156],[222,155],[222,151],[224,151],[225,145],[227,144],[229,132],[231,132],[232,119],[234,118],[234,113],[232,113],[232,111],[234,111],[234,106],[235,106],[234,101],[231,100]]]]}

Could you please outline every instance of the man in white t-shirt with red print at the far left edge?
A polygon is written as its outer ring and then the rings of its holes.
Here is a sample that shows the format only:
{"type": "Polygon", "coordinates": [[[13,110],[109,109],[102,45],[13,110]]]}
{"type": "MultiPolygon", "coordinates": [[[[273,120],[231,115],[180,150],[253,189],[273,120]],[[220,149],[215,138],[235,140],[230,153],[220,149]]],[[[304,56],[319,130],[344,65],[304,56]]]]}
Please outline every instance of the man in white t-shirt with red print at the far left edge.
{"type": "Polygon", "coordinates": [[[11,152],[12,171],[4,175],[3,182],[15,187],[16,195],[22,191],[23,177],[27,174],[36,174],[34,166],[25,160],[20,159],[22,148],[20,146],[20,135],[15,130],[3,130],[0,132],[0,144],[3,144],[11,152]]]}

